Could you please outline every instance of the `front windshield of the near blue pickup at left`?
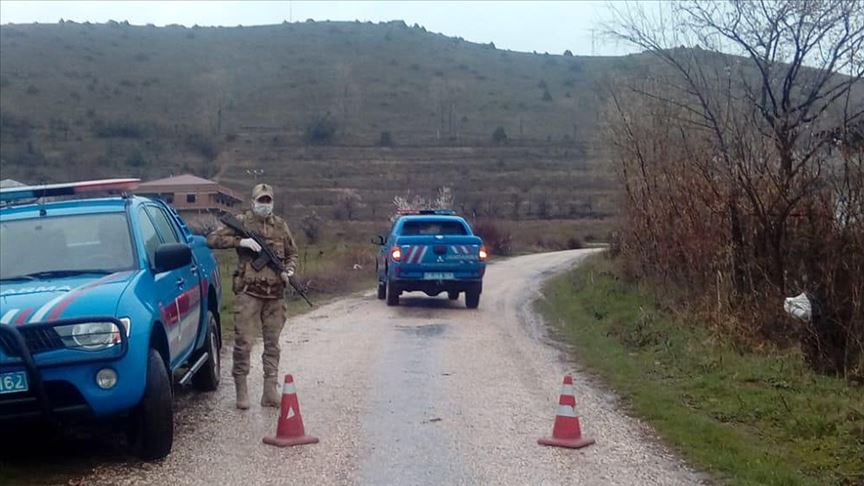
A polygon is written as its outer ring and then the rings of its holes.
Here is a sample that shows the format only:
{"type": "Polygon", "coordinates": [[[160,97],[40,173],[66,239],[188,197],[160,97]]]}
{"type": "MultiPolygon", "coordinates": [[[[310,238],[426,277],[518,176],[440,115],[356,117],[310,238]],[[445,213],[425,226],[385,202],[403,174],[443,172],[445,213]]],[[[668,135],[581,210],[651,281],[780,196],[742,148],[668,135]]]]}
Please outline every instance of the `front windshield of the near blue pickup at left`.
{"type": "Polygon", "coordinates": [[[0,220],[0,280],[133,268],[125,213],[0,220]]]}

